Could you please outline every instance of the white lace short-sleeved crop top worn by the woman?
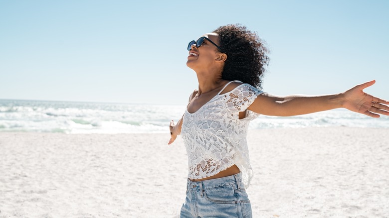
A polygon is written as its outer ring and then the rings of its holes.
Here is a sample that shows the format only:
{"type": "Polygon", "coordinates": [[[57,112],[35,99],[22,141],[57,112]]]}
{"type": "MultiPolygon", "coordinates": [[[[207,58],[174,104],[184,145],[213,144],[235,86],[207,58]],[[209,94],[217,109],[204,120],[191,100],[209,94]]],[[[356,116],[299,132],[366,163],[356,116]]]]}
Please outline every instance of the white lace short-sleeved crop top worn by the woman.
{"type": "Polygon", "coordinates": [[[235,164],[248,187],[252,168],[247,128],[259,114],[247,110],[246,117],[239,119],[239,112],[245,111],[262,93],[249,84],[241,84],[230,92],[217,94],[194,113],[186,109],[181,136],[187,148],[190,179],[213,176],[235,164]]]}

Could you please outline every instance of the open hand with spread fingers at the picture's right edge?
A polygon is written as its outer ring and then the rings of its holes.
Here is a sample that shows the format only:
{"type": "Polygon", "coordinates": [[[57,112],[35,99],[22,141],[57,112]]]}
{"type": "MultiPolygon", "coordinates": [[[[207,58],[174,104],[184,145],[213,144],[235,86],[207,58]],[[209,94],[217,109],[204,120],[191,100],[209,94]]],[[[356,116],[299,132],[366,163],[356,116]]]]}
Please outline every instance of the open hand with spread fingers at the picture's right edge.
{"type": "Polygon", "coordinates": [[[363,91],[375,83],[375,80],[366,82],[344,92],[343,107],[376,118],[380,117],[378,113],[389,115],[388,101],[371,96],[363,91]]]}

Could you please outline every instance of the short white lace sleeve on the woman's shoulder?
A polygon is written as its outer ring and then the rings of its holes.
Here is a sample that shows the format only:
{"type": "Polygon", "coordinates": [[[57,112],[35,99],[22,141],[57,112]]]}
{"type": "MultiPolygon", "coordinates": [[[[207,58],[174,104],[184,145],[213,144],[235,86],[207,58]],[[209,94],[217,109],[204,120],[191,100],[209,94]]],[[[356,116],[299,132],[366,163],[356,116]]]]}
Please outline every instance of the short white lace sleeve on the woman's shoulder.
{"type": "Polygon", "coordinates": [[[242,84],[226,94],[227,108],[231,112],[245,111],[262,93],[249,84],[242,84]]]}

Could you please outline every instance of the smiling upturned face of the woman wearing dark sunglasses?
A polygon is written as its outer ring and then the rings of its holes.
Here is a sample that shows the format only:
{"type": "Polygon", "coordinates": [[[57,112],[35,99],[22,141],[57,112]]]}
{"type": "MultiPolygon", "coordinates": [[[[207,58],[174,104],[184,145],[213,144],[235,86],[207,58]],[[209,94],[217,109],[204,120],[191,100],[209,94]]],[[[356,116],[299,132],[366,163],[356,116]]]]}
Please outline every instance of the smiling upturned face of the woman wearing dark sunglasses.
{"type": "MultiPolygon", "coordinates": [[[[207,33],[202,36],[207,37],[216,45],[219,45],[219,37],[216,33],[207,33]]],[[[223,55],[215,45],[204,39],[200,47],[192,45],[189,51],[187,66],[194,71],[212,69],[220,65],[219,58],[223,55]]],[[[225,55],[225,54],[224,54],[225,55]]]]}

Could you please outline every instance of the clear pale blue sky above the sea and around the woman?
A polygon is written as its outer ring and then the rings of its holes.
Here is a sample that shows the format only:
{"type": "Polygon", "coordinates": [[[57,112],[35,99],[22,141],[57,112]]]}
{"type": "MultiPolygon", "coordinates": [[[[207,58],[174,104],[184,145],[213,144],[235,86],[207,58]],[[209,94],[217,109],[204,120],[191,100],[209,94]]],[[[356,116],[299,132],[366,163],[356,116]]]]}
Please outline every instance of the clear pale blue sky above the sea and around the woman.
{"type": "Polygon", "coordinates": [[[389,99],[388,0],[0,0],[0,99],[184,105],[187,45],[241,23],[267,42],[265,92],[369,80],[389,99]],[[137,3],[135,3],[137,2],[137,3]]]}

